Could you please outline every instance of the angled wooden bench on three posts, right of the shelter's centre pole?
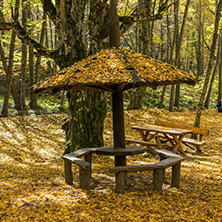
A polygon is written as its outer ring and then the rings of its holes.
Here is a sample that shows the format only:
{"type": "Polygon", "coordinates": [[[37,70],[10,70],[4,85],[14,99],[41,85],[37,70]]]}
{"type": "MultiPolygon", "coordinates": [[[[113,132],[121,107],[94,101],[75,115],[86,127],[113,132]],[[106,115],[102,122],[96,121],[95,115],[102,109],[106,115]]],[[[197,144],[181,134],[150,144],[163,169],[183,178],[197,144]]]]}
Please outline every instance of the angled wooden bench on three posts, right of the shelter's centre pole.
{"type": "Polygon", "coordinates": [[[126,172],[137,171],[153,171],[153,190],[162,191],[165,169],[168,167],[172,167],[171,187],[179,188],[181,161],[184,160],[184,158],[164,149],[157,150],[156,152],[160,155],[161,158],[161,160],[157,163],[146,165],[118,166],[110,168],[109,172],[116,174],[115,191],[117,193],[123,193],[126,172]]]}

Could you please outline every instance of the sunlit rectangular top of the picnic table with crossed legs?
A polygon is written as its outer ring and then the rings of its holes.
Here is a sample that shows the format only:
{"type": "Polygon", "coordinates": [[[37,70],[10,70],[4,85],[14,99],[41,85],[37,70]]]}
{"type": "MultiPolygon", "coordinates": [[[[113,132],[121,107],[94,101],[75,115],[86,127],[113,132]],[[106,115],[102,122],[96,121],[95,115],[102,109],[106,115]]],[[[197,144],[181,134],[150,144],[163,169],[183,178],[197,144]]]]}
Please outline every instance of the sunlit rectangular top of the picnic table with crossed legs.
{"type": "Polygon", "coordinates": [[[162,127],[162,126],[156,126],[156,125],[131,126],[131,128],[135,130],[165,133],[165,134],[171,134],[171,135],[188,134],[188,133],[193,132],[193,130],[169,128],[169,127],[162,127]]]}

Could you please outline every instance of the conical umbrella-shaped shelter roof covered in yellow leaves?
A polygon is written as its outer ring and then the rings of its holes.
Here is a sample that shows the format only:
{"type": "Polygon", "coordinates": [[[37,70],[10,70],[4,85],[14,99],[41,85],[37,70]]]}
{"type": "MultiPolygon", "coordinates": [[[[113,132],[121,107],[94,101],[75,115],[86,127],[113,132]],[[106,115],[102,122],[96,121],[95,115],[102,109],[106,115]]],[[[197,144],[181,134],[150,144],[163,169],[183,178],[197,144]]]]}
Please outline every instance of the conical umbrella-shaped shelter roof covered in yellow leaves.
{"type": "Polygon", "coordinates": [[[103,89],[108,91],[133,87],[188,83],[195,84],[193,74],[128,49],[108,49],[91,55],[63,69],[46,81],[37,83],[33,90],[59,91],[103,89]]]}

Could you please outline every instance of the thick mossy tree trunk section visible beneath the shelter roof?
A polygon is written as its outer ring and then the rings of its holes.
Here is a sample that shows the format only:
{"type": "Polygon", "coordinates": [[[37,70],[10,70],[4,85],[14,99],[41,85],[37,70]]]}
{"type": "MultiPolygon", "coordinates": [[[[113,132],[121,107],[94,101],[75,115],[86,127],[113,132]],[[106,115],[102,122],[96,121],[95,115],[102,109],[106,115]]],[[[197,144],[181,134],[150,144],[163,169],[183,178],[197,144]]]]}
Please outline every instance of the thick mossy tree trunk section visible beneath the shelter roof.
{"type": "Polygon", "coordinates": [[[65,153],[78,148],[103,146],[103,123],[106,117],[104,104],[107,103],[105,93],[70,91],[68,98],[69,122],[65,153]]]}

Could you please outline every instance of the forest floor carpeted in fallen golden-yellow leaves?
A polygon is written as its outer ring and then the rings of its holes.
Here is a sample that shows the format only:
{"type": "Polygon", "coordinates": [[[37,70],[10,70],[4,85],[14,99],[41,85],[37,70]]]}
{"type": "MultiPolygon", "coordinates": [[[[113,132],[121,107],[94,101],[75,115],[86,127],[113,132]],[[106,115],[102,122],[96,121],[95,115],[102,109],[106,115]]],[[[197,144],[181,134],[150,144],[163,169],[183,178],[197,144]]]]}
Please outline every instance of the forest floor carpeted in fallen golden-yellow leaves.
{"type": "MultiPolygon", "coordinates": [[[[152,173],[129,175],[127,191],[115,194],[109,157],[93,156],[90,192],[64,182],[65,115],[0,118],[0,221],[222,221],[222,114],[204,111],[201,127],[210,130],[202,154],[187,150],[181,187],[170,188],[170,171],[161,193],[152,191],[152,173]]],[[[156,118],[192,125],[194,112],[163,110],[125,112],[126,136],[139,138],[132,124],[152,124],[156,118]]],[[[105,143],[112,142],[110,114],[105,143]]],[[[148,155],[128,163],[153,162],[148,155]]]]}

